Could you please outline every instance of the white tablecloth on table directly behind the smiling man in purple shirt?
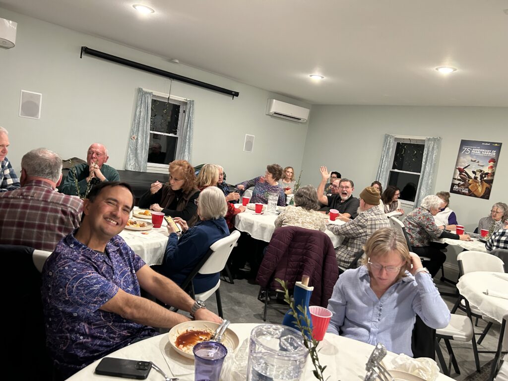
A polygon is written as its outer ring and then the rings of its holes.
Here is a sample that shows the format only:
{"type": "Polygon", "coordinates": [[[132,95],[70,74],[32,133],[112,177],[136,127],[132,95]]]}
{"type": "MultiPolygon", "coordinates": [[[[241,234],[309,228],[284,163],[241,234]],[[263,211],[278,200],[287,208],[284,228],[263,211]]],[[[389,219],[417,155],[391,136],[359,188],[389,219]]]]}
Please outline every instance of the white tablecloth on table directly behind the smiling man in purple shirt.
{"type": "MultiPolygon", "coordinates": [[[[134,212],[139,210],[138,207],[134,208],[134,212]]],[[[133,216],[134,219],[144,220],[133,216]]],[[[151,221],[146,219],[146,221],[151,221]]],[[[158,229],[152,228],[151,230],[140,232],[135,230],[123,229],[120,232],[125,242],[140,256],[147,265],[161,264],[164,258],[164,251],[168,243],[168,224],[163,220],[162,226],[158,229]],[[147,234],[142,234],[147,233],[147,234]]]]}

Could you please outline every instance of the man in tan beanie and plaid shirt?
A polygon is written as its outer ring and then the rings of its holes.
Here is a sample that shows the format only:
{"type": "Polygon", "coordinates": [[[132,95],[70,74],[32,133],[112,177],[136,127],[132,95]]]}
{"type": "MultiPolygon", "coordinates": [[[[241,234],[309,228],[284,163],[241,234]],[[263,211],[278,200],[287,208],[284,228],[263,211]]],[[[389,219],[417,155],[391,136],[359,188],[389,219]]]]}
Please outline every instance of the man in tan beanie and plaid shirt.
{"type": "Polygon", "coordinates": [[[337,266],[345,270],[362,250],[367,239],[378,229],[390,228],[390,220],[379,208],[379,190],[367,186],[360,193],[358,216],[344,225],[327,224],[328,230],[344,236],[342,244],[335,249],[337,266]]]}

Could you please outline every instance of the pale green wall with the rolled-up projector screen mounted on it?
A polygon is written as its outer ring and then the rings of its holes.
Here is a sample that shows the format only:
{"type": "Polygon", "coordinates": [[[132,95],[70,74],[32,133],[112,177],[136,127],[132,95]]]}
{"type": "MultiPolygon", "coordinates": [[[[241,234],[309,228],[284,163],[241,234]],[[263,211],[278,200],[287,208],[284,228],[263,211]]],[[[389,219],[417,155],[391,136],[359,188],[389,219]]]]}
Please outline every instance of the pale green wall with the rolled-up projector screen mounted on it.
{"type": "Polygon", "coordinates": [[[169,91],[167,78],[92,56],[80,59],[81,46],[240,92],[232,100],[173,81],[172,94],[196,101],[193,164],[223,165],[228,182],[261,175],[271,163],[300,168],[307,123],[273,118],[265,109],[269,98],[310,105],[2,8],[0,16],[18,23],[16,46],[0,49],[0,125],[9,131],[8,157],[18,173],[30,149],[85,158],[96,141],[108,147],[108,164],[123,169],[136,89],[169,91]],[[43,93],[40,120],[18,117],[21,89],[43,93]],[[256,136],[253,153],[243,152],[245,134],[256,136]]]}

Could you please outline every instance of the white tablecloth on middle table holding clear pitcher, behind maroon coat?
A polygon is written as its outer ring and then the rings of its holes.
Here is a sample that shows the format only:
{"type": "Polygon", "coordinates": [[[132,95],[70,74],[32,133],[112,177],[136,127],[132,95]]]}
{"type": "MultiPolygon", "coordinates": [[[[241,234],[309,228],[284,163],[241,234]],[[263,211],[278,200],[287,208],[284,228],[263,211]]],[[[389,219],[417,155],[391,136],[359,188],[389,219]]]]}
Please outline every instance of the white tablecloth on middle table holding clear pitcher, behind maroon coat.
{"type": "MultiPolygon", "coordinates": [[[[236,206],[238,206],[237,204],[236,206]]],[[[235,216],[235,228],[241,232],[250,234],[252,238],[259,239],[261,241],[270,242],[273,231],[275,230],[275,219],[278,214],[256,214],[251,209],[245,209],[244,212],[239,213],[235,216]]],[[[325,217],[325,214],[323,215],[325,217]]],[[[323,217],[323,218],[324,218],[323,217]]],[[[328,216],[327,221],[330,221],[328,216]]],[[[332,223],[342,225],[345,224],[342,221],[330,221],[332,223]]],[[[326,223],[326,221],[325,221],[326,223]]],[[[325,233],[330,237],[333,243],[333,247],[337,247],[342,242],[343,237],[333,234],[328,229],[325,233]]]]}

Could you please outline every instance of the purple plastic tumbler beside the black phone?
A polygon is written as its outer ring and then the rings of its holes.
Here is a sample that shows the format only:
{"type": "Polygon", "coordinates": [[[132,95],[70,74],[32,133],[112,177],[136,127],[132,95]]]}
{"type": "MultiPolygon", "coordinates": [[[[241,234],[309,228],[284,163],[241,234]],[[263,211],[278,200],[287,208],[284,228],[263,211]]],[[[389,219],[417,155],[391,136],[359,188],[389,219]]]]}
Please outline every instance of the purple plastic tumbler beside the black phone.
{"type": "Polygon", "coordinates": [[[228,350],[215,341],[203,341],[194,346],[194,381],[219,381],[220,371],[228,350]]]}

